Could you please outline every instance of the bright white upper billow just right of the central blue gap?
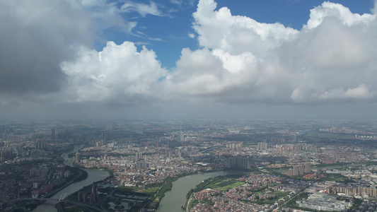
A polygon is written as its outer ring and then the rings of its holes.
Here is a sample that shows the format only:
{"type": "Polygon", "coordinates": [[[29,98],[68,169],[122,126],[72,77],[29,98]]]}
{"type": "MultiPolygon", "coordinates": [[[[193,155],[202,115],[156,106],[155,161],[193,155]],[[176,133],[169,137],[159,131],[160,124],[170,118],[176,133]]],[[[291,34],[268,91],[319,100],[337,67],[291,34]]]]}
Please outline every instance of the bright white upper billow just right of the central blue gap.
{"type": "Polygon", "coordinates": [[[230,54],[253,52],[259,55],[294,39],[298,33],[280,23],[258,23],[245,16],[232,16],[228,8],[214,11],[215,8],[214,1],[201,0],[192,15],[195,18],[193,28],[199,34],[202,47],[224,49],[230,54]]]}

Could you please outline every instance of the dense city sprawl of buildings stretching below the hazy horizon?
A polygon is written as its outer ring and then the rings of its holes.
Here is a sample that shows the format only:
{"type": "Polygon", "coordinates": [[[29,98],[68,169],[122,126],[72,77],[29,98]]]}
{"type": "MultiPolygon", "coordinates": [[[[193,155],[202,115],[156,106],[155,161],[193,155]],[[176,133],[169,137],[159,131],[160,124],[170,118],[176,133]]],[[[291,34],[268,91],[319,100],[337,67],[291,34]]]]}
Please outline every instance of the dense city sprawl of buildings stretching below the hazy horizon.
{"type": "Polygon", "coordinates": [[[224,170],[181,210],[376,211],[376,135],[354,120],[4,121],[0,211],[158,211],[177,179],[224,170]],[[108,177],[52,198],[88,170],[108,177]]]}

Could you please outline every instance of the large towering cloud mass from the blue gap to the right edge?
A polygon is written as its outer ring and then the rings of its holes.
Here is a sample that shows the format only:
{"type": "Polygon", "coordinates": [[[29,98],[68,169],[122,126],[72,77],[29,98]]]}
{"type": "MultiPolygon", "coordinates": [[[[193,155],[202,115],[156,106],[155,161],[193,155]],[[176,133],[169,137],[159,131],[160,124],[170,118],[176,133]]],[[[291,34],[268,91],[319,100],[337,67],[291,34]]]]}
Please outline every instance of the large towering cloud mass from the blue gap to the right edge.
{"type": "Polygon", "coordinates": [[[301,30],[258,23],[200,0],[193,28],[203,49],[182,50],[170,96],[201,102],[325,104],[376,100],[376,15],[324,2],[301,30]]]}

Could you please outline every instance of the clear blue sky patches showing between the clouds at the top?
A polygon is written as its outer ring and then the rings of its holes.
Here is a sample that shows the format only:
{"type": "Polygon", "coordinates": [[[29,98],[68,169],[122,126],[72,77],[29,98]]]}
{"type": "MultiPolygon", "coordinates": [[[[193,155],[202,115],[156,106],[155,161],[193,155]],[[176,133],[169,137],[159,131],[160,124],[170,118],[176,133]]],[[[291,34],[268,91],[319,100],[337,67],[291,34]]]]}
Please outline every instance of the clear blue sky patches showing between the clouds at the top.
{"type": "MultiPolygon", "coordinates": [[[[117,2],[121,6],[123,2],[117,2]]],[[[137,1],[149,5],[151,1],[137,1]]],[[[192,13],[197,9],[197,1],[182,1],[181,4],[173,4],[170,1],[153,1],[161,11],[162,16],[153,16],[151,14],[142,17],[137,12],[124,14],[125,20],[137,21],[137,26],[133,33],[139,36],[127,35],[117,29],[109,29],[103,32],[105,40],[112,40],[118,45],[124,41],[137,43],[138,48],[142,45],[153,49],[157,52],[158,60],[168,69],[175,67],[175,61],[178,61],[180,52],[183,48],[199,48],[196,38],[188,37],[189,33],[196,35],[192,29],[192,13]],[[144,35],[140,35],[141,32],[144,35]],[[150,40],[149,38],[158,38],[159,40],[150,40]]],[[[371,13],[374,1],[331,1],[348,7],[353,13],[371,13]]],[[[300,0],[219,0],[216,1],[217,9],[227,7],[231,10],[233,16],[248,16],[260,23],[282,23],[286,27],[301,30],[309,19],[310,10],[315,6],[320,6],[323,1],[300,1],[300,0]]],[[[95,49],[102,50],[105,43],[98,43],[95,49]]]]}

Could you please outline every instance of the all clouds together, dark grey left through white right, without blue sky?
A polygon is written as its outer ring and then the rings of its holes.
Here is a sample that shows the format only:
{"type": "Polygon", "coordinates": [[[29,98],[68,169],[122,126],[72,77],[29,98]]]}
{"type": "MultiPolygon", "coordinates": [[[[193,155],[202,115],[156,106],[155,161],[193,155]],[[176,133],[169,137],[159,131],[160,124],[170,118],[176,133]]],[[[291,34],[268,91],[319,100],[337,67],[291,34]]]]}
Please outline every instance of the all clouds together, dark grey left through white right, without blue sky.
{"type": "Polygon", "coordinates": [[[153,1],[126,1],[120,8],[105,0],[1,1],[6,21],[0,22],[0,105],[31,99],[125,105],[376,102],[376,14],[324,2],[295,30],[216,6],[199,0],[192,15],[196,34],[188,35],[199,49],[182,49],[176,67],[167,71],[153,50],[138,51],[133,42],[108,42],[100,52],[91,48],[105,28],[132,31],[137,23],[121,13],[162,16],[153,1]],[[10,92],[23,95],[11,98],[10,92]]]}

